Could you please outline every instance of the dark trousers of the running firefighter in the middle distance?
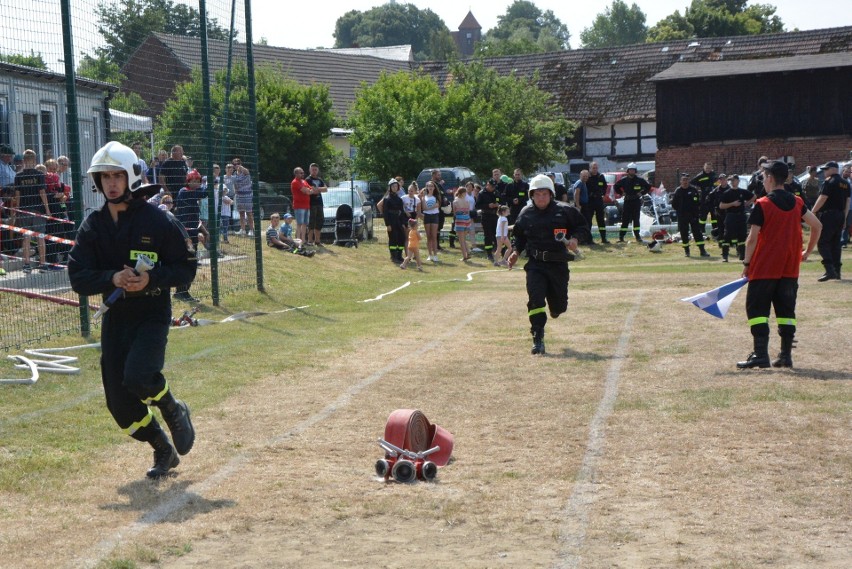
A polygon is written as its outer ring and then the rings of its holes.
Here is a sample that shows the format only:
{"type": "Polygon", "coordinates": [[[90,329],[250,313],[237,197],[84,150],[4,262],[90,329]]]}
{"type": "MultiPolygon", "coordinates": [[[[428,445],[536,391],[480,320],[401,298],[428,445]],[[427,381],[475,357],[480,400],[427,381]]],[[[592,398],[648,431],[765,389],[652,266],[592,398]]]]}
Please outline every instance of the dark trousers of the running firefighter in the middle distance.
{"type": "Polygon", "coordinates": [[[530,325],[543,329],[549,309],[554,318],[568,310],[568,263],[547,262],[531,258],[524,266],[527,274],[527,310],[530,325]]]}

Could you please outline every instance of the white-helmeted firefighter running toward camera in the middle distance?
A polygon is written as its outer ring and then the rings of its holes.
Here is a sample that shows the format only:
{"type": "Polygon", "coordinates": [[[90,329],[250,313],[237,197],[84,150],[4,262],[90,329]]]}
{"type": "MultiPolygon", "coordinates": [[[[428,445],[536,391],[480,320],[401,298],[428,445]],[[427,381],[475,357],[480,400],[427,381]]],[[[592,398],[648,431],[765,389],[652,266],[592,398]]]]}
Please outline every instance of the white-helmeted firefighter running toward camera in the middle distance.
{"type": "Polygon", "coordinates": [[[586,238],[589,231],[576,208],[556,201],[553,180],[547,176],[530,180],[530,199],[533,203],[521,210],[512,229],[509,268],[517,262],[518,251],[526,251],[532,353],[544,354],[546,311],[558,318],[568,310],[568,261],[574,258],[577,238],[586,238]]]}

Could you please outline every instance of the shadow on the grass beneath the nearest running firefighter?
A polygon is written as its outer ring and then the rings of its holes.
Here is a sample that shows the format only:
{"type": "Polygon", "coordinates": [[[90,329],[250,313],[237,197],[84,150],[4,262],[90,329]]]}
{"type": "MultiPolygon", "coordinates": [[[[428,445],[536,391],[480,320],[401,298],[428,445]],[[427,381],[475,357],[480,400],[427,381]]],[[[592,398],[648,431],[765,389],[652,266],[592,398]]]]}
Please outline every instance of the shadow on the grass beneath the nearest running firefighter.
{"type": "Polygon", "coordinates": [[[208,500],[186,489],[191,481],[173,481],[180,476],[174,472],[165,480],[149,479],[134,480],[118,488],[118,494],[126,496],[126,502],[104,504],[102,510],[138,511],[144,515],[139,521],[143,523],[160,523],[170,516],[177,514],[182,520],[198,514],[208,514],[222,508],[233,508],[233,500],[208,500]]]}

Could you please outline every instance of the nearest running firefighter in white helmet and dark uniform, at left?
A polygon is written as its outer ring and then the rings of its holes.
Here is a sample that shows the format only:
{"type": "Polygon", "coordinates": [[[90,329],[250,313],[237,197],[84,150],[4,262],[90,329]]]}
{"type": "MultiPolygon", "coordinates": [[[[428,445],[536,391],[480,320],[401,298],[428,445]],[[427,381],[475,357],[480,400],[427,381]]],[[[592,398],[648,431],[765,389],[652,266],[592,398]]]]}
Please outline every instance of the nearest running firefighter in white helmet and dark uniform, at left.
{"type": "Polygon", "coordinates": [[[189,407],[175,399],[163,376],[172,321],[169,289],[195,278],[197,260],[183,226],[145,198],[159,186],[143,186],[136,154],[109,142],[88,170],[104,194],[104,206],[83,221],[69,253],[68,277],[80,295],[106,299],[124,289],[104,314],[101,328],[101,378],[107,408],[118,426],[154,447],[149,478],[160,478],[190,451],[195,430],[189,407]],[[154,262],[136,272],[139,255],[154,262]],[[160,428],[151,406],[160,409],[174,441],[160,428]]]}

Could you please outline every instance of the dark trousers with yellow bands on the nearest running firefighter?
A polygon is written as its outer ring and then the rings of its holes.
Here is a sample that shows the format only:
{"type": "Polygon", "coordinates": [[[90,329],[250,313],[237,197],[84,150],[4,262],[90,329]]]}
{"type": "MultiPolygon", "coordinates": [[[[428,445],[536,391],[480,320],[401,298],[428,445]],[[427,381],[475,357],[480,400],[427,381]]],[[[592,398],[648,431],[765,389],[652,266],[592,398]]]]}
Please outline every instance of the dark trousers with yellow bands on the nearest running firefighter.
{"type": "MultiPolygon", "coordinates": [[[[168,296],[168,290],[162,294],[168,296]]],[[[150,442],[157,421],[151,404],[169,390],[160,370],[165,364],[171,310],[156,308],[150,298],[126,298],[104,314],[101,334],[101,379],[109,412],[136,440],[150,442]],[[146,428],[147,427],[147,428],[146,428]]]]}

